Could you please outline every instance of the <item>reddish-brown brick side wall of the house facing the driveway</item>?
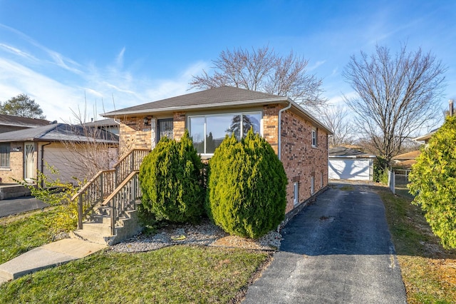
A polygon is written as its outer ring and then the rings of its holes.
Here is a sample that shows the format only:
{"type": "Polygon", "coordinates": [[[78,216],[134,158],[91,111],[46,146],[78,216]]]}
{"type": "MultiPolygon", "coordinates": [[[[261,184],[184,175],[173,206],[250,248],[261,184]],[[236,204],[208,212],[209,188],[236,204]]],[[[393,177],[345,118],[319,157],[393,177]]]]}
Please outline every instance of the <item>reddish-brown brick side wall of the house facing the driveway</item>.
{"type": "Polygon", "coordinates": [[[309,121],[291,111],[281,114],[281,161],[284,164],[289,184],[286,188],[286,212],[294,208],[294,183],[299,182],[299,203],[312,196],[311,179],[314,178],[314,193],[328,184],[327,134],[317,129],[317,146],[312,147],[309,121]]]}

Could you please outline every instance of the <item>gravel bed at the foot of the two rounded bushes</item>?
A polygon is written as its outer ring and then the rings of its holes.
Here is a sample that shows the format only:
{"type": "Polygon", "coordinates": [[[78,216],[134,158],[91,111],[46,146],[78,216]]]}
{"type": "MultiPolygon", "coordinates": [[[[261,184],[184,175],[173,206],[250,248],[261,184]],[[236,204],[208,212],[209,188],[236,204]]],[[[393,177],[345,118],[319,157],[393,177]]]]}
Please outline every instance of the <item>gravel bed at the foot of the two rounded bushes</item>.
{"type": "Polygon", "coordinates": [[[207,245],[229,248],[249,248],[257,250],[277,250],[281,235],[271,231],[257,240],[228,235],[221,228],[205,220],[199,224],[170,225],[161,228],[154,235],[142,233],[112,245],[110,250],[119,253],[135,253],[157,250],[169,245],[207,245]]]}

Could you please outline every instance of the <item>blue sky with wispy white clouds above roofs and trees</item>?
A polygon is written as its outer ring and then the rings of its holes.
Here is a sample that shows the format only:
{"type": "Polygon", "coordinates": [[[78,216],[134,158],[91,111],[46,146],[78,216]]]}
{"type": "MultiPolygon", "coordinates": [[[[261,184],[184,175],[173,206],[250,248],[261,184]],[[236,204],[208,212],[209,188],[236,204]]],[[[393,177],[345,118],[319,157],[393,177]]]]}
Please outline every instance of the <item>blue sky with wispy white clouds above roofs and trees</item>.
{"type": "MultiPolygon", "coordinates": [[[[0,101],[27,93],[49,120],[71,121],[189,93],[226,49],[294,51],[326,98],[353,90],[350,56],[407,43],[447,66],[456,98],[456,1],[0,0],[0,101]]],[[[195,91],[195,90],[193,90],[195,91]]]]}

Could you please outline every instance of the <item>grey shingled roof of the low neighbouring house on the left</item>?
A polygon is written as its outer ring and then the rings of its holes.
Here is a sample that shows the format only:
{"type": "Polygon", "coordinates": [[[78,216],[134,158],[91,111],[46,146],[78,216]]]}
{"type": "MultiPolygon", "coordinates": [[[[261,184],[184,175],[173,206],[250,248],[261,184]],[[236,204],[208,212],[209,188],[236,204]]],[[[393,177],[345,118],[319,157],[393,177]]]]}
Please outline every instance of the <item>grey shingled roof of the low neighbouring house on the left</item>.
{"type": "MultiPolygon", "coordinates": [[[[95,134],[98,143],[118,143],[119,138],[108,131],[98,130],[95,134]]],[[[0,142],[11,141],[93,141],[93,136],[83,126],[71,126],[65,123],[48,124],[36,128],[0,133],[0,142]]]]}

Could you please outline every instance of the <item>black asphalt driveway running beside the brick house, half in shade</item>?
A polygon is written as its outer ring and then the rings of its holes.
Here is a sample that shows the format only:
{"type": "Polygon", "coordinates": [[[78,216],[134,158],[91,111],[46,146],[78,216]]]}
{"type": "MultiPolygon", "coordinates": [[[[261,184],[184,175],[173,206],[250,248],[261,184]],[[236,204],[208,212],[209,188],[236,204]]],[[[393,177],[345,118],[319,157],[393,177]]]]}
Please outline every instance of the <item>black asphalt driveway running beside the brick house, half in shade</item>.
{"type": "Polygon", "coordinates": [[[333,183],[282,235],[243,303],[407,303],[385,207],[370,186],[333,183]]]}

